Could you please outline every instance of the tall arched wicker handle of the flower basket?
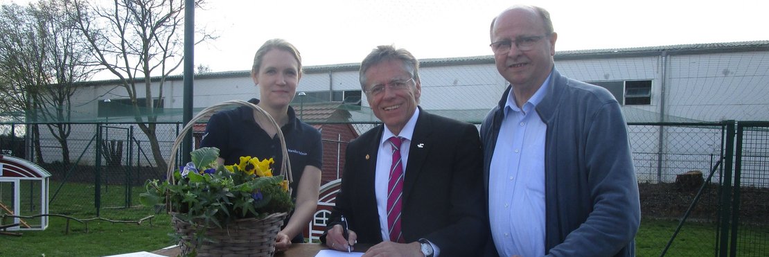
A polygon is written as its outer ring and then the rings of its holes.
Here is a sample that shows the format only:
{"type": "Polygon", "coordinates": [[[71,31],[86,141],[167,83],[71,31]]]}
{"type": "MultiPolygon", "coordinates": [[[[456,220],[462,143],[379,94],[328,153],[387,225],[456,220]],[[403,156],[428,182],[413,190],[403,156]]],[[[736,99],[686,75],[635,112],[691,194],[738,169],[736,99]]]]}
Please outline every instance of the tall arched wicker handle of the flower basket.
{"type": "MultiPolygon", "coordinates": [[[[171,155],[168,156],[168,171],[166,172],[167,178],[171,181],[171,183],[174,183],[174,162],[176,160],[176,153],[178,152],[179,146],[181,145],[181,141],[184,140],[185,134],[189,132],[190,129],[192,129],[192,126],[195,125],[195,122],[198,122],[201,118],[205,117],[205,115],[213,114],[215,112],[220,111],[221,109],[225,109],[230,107],[231,105],[241,105],[246,106],[254,109],[256,112],[256,115],[261,115],[263,118],[266,118],[269,122],[269,125],[274,125],[275,128],[278,130],[278,139],[281,141],[281,151],[283,154],[283,158],[281,159],[281,171],[285,172],[285,180],[288,180],[288,184],[291,185],[291,182],[294,182],[294,179],[291,175],[291,162],[288,162],[288,148],[286,148],[286,142],[283,137],[283,132],[281,131],[280,125],[278,125],[278,122],[275,122],[275,119],[272,118],[267,112],[265,112],[264,109],[259,107],[258,105],[252,104],[250,102],[245,102],[243,100],[230,100],[226,102],[220,102],[215,105],[208,106],[207,108],[204,108],[202,111],[198,112],[198,115],[195,115],[195,117],[192,117],[192,119],[185,125],[184,128],[181,129],[179,132],[179,136],[176,138],[176,141],[174,141],[174,145],[171,148],[171,155]]],[[[291,193],[291,187],[288,187],[288,192],[291,193]]]]}

